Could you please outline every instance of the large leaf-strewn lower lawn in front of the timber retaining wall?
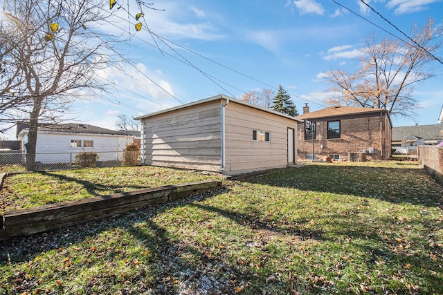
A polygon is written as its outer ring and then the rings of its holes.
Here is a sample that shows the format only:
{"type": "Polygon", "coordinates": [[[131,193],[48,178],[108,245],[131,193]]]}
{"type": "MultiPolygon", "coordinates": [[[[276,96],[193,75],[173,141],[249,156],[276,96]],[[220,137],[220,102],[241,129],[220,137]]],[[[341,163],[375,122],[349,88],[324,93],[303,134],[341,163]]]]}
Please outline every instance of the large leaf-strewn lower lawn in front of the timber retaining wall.
{"type": "Polygon", "coordinates": [[[442,187],[410,162],[348,165],[0,242],[0,294],[443,294],[442,187]]]}

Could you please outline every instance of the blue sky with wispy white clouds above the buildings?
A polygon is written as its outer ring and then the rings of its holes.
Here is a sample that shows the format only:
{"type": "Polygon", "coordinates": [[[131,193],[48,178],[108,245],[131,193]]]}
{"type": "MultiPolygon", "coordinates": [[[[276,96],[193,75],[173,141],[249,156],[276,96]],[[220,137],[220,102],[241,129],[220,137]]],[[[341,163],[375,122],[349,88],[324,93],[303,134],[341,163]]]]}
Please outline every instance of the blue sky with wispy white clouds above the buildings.
{"type": "MultiPolygon", "coordinates": [[[[428,18],[443,25],[442,0],[365,1],[407,35],[428,18]]],[[[263,88],[277,93],[279,85],[300,114],[305,103],[316,111],[328,107],[323,73],[357,70],[365,38],[395,39],[388,32],[404,37],[360,0],[152,2],[157,10],[143,8],[146,23],[140,32],[127,21],[105,28],[128,37],[120,49],[128,57],[122,64],[129,75],[100,73],[114,83],[114,95],[75,102],[66,118],[118,129],[118,115],[136,117],[219,94],[240,98],[263,88]]],[[[132,4],[129,10],[140,12],[132,4]]],[[[111,12],[127,19],[124,10],[111,12]]],[[[436,55],[442,59],[443,48],[436,55]]],[[[440,77],[419,84],[413,93],[419,116],[392,117],[393,126],[437,124],[443,66],[436,61],[433,66],[440,77]]]]}

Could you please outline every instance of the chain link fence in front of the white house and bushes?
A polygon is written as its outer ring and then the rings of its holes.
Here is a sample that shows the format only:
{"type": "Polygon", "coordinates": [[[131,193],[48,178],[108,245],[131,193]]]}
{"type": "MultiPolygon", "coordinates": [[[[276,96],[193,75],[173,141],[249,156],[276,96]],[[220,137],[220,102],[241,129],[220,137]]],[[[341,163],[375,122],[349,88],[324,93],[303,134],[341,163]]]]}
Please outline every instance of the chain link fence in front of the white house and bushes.
{"type": "MultiPolygon", "coordinates": [[[[26,153],[1,151],[0,171],[26,171],[26,153]]],[[[88,167],[136,166],[141,164],[140,151],[80,151],[73,153],[36,153],[34,171],[80,169],[88,167]]],[[[29,163],[28,163],[29,164],[29,163]]]]}

